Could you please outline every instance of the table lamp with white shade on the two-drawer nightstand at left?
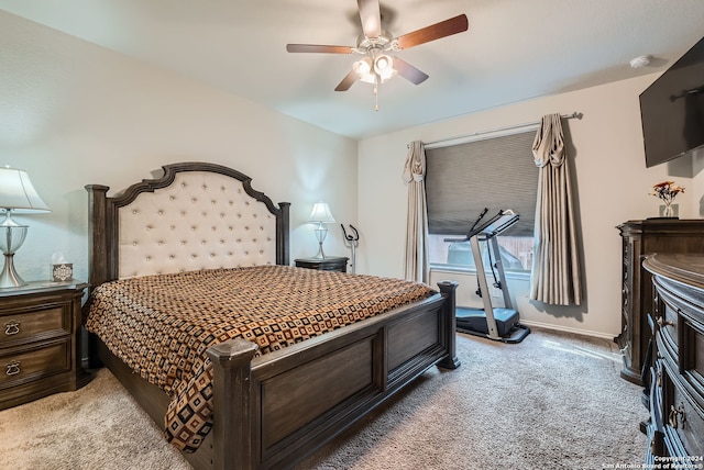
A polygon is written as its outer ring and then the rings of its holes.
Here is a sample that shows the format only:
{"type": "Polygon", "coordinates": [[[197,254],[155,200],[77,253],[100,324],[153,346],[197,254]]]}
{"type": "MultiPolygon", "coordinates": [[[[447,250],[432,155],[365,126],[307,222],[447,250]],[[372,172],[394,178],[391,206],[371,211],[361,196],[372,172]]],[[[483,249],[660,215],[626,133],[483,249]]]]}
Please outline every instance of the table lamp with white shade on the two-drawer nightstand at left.
{"type": "Polygon", "coordinates": [[[0,223],[0,250],[4,255],[0,289],[18,288],[26,282],[14,270],[13,257],[24,243],[29,227],[15,222],[12,215],[50,212],[50,209],[34,190],[26,171],[0,167],[0,210],[6,213],[0,223]]]}

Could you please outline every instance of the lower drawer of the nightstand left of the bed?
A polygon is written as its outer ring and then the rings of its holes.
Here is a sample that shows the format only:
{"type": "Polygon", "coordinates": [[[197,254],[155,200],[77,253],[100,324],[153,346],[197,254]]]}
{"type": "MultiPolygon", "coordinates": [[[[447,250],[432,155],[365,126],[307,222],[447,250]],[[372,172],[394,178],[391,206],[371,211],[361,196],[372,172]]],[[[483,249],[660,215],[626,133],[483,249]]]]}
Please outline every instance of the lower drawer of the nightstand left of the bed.
{"type": "Polygon", "coordinates": [[[37,344],[32,348],[7,349],[0,351],[0,389],[68,372],[70,369],[69,337],[37,344]]]}

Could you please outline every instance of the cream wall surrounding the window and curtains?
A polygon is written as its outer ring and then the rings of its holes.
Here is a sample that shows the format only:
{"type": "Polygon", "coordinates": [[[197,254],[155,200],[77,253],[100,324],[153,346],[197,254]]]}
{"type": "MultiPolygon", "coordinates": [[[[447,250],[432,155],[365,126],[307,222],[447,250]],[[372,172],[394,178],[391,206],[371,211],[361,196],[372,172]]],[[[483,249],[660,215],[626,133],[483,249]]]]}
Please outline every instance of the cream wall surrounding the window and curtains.
{"type": "MultiPolygon", "coordinates": [[[[647,169],[638,94],[656,75],[526,101],[460,116],[360,143],[359,211],[364,233],[360,272],[403,277],[407,188],[400,179],[406,145],[435,142],[474,132],[539,121],[549,113],[583,114],[565,121],[576,179],[578,212],[584,246],[586,301],[581,306],[553,306],[528,300],[527,282],[512,284],[526,323],[613,337],[620,332],[622,255],[615,228],[622,222],[658,215],[652,184],[668,178],[688,188],[678,197],[680,216],[698,217],[703,177],[692,179],[691,163],[647,169]],[[688,166],[689,165],[689,166],[688,166]],[[700,181],[702,180],[702,181],[700,181]],[[696,183],[696,186],[695,186],[696,183]]],[[[501,182],[497,181],[497,184],[501,182]]],[[[433,276],[448,278],[448,275],[433,276]]],[[[460,299],[472,298],[474,278],[460,277],[460,299]]]]}

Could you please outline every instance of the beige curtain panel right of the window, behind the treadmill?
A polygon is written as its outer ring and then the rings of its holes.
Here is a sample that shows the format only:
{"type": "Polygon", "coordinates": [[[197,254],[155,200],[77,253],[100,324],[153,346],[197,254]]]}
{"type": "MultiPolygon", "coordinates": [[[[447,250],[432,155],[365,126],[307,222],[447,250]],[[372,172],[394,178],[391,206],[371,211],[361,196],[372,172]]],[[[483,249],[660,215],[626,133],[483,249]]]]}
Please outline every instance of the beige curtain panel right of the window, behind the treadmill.
{"type": "Polygon", "coordinates": [[[582,267],[560,114],[542,118],[532,152],[539,176],[530,299],[580,305],[582,267]]]}

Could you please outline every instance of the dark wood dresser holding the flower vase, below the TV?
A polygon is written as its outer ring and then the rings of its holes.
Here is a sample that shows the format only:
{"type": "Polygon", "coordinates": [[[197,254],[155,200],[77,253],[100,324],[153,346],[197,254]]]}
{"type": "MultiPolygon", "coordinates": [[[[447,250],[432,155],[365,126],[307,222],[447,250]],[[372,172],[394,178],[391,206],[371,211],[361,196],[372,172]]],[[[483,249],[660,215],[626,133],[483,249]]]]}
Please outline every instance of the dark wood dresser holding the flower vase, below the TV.
{"type": "Polygon", "coordinates": [[[615,338],[624,355],[620,376],[641,383],[650,342],[652,280],[641,267],[650,253],[704,254],[704,220],[647,219],[617,226],[623,238],[622,333],[615,338]]]}

